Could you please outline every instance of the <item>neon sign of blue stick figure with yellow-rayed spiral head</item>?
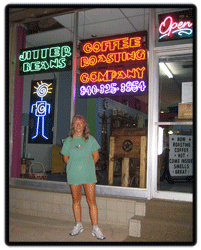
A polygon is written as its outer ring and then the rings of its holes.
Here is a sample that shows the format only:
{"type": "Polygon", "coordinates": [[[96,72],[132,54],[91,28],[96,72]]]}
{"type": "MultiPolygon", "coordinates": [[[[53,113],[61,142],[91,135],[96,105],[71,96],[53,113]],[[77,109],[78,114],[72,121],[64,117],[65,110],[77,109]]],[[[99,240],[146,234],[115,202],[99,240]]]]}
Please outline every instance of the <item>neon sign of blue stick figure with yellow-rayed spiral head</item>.
{"type": "Polygon", "coordinates": [[[55,80],[32,81],[29,143],[52,143],[55,80]]]}

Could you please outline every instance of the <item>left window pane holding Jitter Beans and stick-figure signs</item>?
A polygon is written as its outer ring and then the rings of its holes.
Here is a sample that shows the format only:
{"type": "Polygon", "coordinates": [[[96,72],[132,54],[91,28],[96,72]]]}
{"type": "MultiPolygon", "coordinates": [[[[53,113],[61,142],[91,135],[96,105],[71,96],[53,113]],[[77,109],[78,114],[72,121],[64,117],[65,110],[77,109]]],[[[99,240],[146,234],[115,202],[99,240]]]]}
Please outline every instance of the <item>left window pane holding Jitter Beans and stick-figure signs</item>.
{"type": "Polygon", "coordinates": [[[65,28],[62,17],[48,17],[24,24],[27,30],[26,48],[22,55],[39,66],[35,66],[33,71],[30,66],[22,67],[26,72],[22,106],[21,178],[30,178],[31,171],[34,173],[32,178],[66,181],[63,174],[65,164],[59,152],[61,140],[67,137],[70,128],[74,14],[65,15],[68,28],[65,28]]]}

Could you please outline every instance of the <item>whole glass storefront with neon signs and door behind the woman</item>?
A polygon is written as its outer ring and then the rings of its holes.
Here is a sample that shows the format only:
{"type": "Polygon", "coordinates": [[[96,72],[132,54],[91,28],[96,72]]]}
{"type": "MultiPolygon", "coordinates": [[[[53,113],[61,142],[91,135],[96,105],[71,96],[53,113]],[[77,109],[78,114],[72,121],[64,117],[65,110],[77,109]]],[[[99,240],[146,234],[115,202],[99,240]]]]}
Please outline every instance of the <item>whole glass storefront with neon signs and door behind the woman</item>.
{"type": "Polygon", "coordinates": [[[70,193],[59,151],[81,114],[101,145],[98,195],[192,202],[195,17],[134,6],[13,23],[10,184],[70,193]],[[46,180],[29,178],[34,162],[46,180]]]}

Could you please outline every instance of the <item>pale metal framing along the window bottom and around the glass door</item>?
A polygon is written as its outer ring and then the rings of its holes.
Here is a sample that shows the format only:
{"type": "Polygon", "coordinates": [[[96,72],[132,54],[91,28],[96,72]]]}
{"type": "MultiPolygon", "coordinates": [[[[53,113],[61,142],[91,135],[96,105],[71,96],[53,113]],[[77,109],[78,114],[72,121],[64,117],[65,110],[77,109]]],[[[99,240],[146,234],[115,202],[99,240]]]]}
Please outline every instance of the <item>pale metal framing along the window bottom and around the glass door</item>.
{"type": "MultiPolygon", "coordinates": [[[[150,13],[153,9],[149,9],[150,13]]],[[[152,20],[153,13],[149,14],[150,26],[149,33],[153,32],[154,21],[152,20]],[[152,28],[150,28],[152,25],[152,28]]],[[[154,32],[153,32],[154,33],[154,32]]],[[[184,45],[175,45],[175,46],[164,46],[164,47],[155,47],[154,42],[155,37],[153,34],[149,34],[149,42],[152,44],[152,48],[149,51],[148,64],[152,66],[153,71],[149,71],[149,90],[148,93],[148,142],[147,142],[147,181],[146,188],[130,188],[130,187],[117,187],[117,186],[103,186],[97,185],[96,193],[97,195],[105,196],[120,196],[120,197],[129,197],[129,198],[143,198],[143,199],[169,199],[169,200],[182,200],[182,201],[192,201],[193,194],[186,193],[176,193],[176,192],[165,192],[157,191],[157,142],[158,142],[158,126],[159,125],[168,125],[167,123],[159,122],[159,57],[161,55],[174,55],[182,53],[193,53],[192,44],[184,45]],[[152,39],[150,39],[152,37],[152,39]],[[152,41],[151,41],[152,40],[152,41]],[[150,88],[151,85],[151,88],[150,88]]],[[[14,84],[14,83],[13,83],[14,84]]],[[[57,102],[57,101],[56,101],[57,102]]],[[[56,103],[55,103],[56,105],[56,103]]],[[[12,114],[12,112],[11,112],[12,114]]],[[[12,121],[11,121],[12,124],[12,121]]],[[[178,124],[178,123],[177,123],[178,124]]],[[[172,123],[171,123],[172,125],[172,123]]],[[[181,125],[191,125],[182,123],[181,125]]],[[[12,127],[12,126],[11,126],[12,127]]],[[[12,129],[11,129],[12,130],[12,129]]],[[[12,136],[11,136],[12,137],[12,136]]],[[[55,141],[55,137],[54,137],[55,141]]],[[[10,143],[12,146],[12,142],[10,143]]],[[[12,147],[11,147],[12,148],[12,147]]],[[[10,176],[9,167],[9,176],[10,176]]],[[[65,192],[71,193],[69,185],[65,182],[56,182],[56,181],[40,181],[40,180],[30,180],[30,179],[21,179],[21,178],[9,178],[9,184],[12,186],[18,186],[20,188],[35,188],[43,190],[54,190],[55,192],[65,192]]],[[[82,191],[83,192],[83,191],[82,191]]]]}

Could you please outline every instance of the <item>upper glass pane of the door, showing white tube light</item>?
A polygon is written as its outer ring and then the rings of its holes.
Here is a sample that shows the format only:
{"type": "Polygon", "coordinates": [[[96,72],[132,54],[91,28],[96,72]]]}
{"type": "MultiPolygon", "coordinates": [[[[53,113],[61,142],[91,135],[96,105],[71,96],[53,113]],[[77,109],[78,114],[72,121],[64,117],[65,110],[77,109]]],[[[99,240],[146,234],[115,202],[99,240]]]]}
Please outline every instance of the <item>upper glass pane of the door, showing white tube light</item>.
{"type": "Polygon", "coordinates": [[[192,119],[190,106],[186,103],[193,102],[193,55],[160,57],[159,77],[159,121],[192,119]],[[187,108],[189,112],[184,110],[187,108]]]}

